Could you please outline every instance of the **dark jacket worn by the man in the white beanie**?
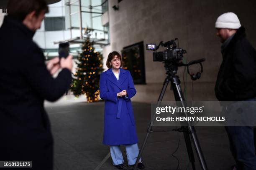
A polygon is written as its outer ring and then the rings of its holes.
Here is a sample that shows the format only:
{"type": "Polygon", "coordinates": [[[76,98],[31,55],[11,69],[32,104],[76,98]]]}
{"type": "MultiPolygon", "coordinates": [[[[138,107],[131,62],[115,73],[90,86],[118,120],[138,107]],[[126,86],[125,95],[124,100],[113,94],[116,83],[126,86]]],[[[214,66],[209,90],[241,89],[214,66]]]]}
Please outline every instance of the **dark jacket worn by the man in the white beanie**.
{"type": "Polygon", "coordinates": [[[245,28],[237,30],[223,53],[215,85],[218,100],[247,100],[256,97],[256,51],[245,28]]]}

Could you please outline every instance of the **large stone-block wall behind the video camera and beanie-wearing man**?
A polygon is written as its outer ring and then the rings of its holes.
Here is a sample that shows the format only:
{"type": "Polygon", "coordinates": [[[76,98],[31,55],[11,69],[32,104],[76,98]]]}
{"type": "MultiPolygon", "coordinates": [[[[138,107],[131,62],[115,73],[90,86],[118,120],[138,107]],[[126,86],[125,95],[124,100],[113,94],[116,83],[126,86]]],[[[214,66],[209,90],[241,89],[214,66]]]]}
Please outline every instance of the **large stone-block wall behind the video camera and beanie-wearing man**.
{"type": "MultiPolygon", "coordinates": [[[[109,0],[110,45],[104,48],[103,56],[106,60],[109,52],[120,52],[137,42],[158,44],[178,37],[180,47],[188,52],[188,61],[206,58],[200,80],[192,84],[190,77],[187,79],[188,100],[216,100],[214,85],[222,56],[215,21],[222,13],[236,13],[256,47],[255,7],[255,0],[109,0]],[[113,5],[118,5],[119,10],[113,10],[113,5]]],[[[164,65],[152,61],[151,51],[144,48],[144,54],[147,85],[136,85],[138,92],[133,100],[150,102],[157,100],[166,75],[164,65]]],[[[178,72],[181,80],[183,69],[180,67],[178,72]]],[[[199,65],[191,70],[197,72],[199,65]]],[[[174,100],[169,87],[164,100],[174,100]]]]}

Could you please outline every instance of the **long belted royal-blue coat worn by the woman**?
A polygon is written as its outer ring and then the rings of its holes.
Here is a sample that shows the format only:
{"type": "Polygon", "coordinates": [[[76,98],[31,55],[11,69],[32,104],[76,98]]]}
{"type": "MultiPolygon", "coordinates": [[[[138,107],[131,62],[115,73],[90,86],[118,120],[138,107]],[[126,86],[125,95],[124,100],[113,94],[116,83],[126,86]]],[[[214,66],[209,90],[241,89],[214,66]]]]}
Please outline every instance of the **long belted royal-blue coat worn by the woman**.
{"type": "Polygon", "coordinates": [[[105,145],[128,145],[138,143],[131,104],[136,94],[133,78],[128,70],[120,68],[119,80],[108,69],[100,75],[100,97],[105,100],[104,135],[105,145]],[[127,90],[127,97],[117,97],[117,93],[127,90]]]}

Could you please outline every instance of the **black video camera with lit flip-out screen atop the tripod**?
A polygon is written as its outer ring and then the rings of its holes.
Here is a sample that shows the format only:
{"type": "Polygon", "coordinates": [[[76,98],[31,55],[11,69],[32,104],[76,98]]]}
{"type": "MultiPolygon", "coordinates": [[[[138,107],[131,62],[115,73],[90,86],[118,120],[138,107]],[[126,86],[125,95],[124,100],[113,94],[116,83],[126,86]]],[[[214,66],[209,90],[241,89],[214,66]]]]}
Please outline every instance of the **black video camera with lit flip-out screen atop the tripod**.
{"type": "Polygon", "coordinates": [[[161,41],[157,46],[156,44],[146,44],[146,49],[156,51],[159,49],[160,45],[166,47],[166,50],[164,51],[153,52],[153,61],[178,62],[182,60],[183,54],[187,53],[187,51],[179,47],[177,48],[176,40],[178,40],[178,38],[167,42],[161,41]]]}

